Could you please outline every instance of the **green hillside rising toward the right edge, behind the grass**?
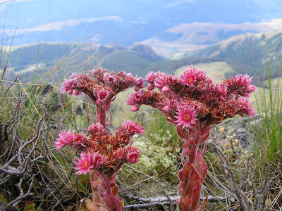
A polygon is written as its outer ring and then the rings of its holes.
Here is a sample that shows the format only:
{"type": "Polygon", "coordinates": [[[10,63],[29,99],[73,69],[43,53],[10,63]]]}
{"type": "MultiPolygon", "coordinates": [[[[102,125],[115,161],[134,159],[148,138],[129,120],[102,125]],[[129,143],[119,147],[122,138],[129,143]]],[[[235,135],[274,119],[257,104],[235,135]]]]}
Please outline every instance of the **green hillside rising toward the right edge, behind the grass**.
{"type": "Polygon", "coordinates": [[[241,34],[205,49],[188,53],[188,57],[218,58],[226,60],[237,73],[247,73],[263,79],[269,61],[273,77],[280,72],[282,32],[241,34]]]}

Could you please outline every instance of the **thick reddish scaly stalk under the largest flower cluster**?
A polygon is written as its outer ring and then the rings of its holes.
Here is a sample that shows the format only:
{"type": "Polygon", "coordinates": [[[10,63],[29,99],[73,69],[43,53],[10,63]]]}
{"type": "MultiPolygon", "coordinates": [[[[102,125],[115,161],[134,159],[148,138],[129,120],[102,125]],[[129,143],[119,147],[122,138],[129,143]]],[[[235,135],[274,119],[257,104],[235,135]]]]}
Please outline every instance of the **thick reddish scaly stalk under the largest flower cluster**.
{"type": "Polygon", "coordinates": [[[188,130],[178,128],[178,136],[183,137],[183,151],[181,155],[182,169],[178,172],[179,207],[182,210],[203,210],[207,206],[207,202],[199,207],[200,193],[203,181],[207,175],[207,163],[204,161],[204,153],[206,150],[206,143],[204,143],[204,150],[199,150],[200,143],[207,141],[209,136],[209,129],[200,128],[200,122],[195,122],[195,127],[188,130]],[[208,131],[207,131],[208,130],[208,131]],[[187,136],[186,138],[184,138],[187,136]]]}

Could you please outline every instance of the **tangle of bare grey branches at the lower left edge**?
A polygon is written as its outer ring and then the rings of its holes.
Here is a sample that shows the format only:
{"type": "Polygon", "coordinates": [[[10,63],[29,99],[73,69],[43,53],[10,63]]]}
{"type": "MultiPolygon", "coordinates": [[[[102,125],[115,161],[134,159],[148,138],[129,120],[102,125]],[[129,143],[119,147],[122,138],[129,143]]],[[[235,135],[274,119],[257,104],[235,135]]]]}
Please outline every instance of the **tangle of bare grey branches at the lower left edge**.
{"type": "MultiPolygon", "coordinates": [[[[12,85],[13,83],[11,84],[11,86],[12,85]]],[[[11,86],[8,87],[8,89],[10,89],[11,86]]],[[[8,89],[6,89],[6,92],[8,91],[8,89]]],[[[42,143],[44,143],[44,140],[42,138],[44,131],[46,131],[47,129],[47,126],[44,123],[44,120],[47,117],[47,112],[46,110],[44,110],[44,114],[38,121],[35,136],[33,136],[29,141],[21,140],[20,134],[18,134],[18,121],[21,108],[20,103],[22,101],[21,98],[20,88],[18,87],[18,100],[13,101],[13,99],[11,99],[11,116],[8,117],[8,120],[6,120],[5,123],[2,122],[2,119],[0,120],[1,146],[3,146],[2,143],[4,143],[4,141],[9,141],[9,134],[13,133],[13,136],[11,138],[11,146],[6,148],[6,151],[0,157],[4,161],[4,164],[1,163],[0,167],[0,186],[3,186],[8,182],[14,183],[14,181],[11,181],[11,179],[16,177],[18,184],[16,184],[15,186],[19,191],[18,196],[4,206],[6,210],[16,207],[22,200],[29,196],[32,196],[31,191],[34,185],[36,174],[32,172],[30,163],[44,158],[43,155],[35,157],[35,150],[38,148],[40,140],[42,140],[42,143]],[[26,182],[27,179],[30,179],[28,183],[26,182]],[[26,184],[28,184],[27,189],[25,187],[26,184]]],[[[1,101],[0,103],[3,103],[3,101],[1,101]]]]}

